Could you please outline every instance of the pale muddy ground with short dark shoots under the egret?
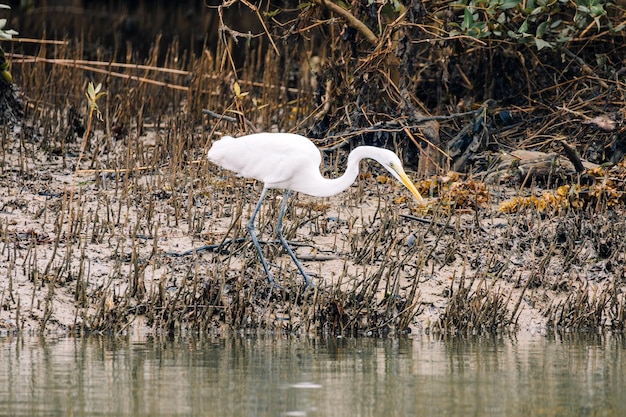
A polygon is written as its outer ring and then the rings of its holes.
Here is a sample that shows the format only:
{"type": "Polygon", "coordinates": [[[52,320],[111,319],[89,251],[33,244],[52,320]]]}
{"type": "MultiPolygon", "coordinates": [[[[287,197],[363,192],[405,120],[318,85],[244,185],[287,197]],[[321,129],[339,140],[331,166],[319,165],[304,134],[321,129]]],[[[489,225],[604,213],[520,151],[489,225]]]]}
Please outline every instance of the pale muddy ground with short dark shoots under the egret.
{"type": "MultiPolygon", "coordinates": [[[[194,130],[201,135],[201,126],[194,130]]],[[[149,147],[159,137],[147,128],[138,141],[149,147]]],[[[306,291],[274,240],[282,194],[269,196],[258,225],[281,289],[268,285],[245,233],[259,184],[202,159],[179,172],[164,165],[76,173],[76,154],[64,158],[42,142],[20,141],[19,128],[4,143],[0,322],[7,331],[371,334],[623,325],[621,207],[509,214],[499,203],[541,191],[491,185],[481,194],[488,203],[455,208],[429,196],[432,181],[410,173],[426,196],[420,207],[370,162],[346,192],[297,195],[289,204],[286,236],[315,284],[306,291]],[[192,250],[203,245],[215,246],[192,250]]]]}

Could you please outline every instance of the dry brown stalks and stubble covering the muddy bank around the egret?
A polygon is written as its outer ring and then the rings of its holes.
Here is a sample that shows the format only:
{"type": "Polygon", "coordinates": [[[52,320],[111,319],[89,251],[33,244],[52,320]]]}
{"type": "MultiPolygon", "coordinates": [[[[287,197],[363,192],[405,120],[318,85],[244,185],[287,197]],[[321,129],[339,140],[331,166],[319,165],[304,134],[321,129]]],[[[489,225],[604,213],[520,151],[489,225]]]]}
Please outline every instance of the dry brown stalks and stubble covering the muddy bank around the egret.
{"type": "MultiPolygon", "coordinates": [[[[333,89],[350,92],[335,105],[310,74],[285,80],[286,70],[293,75],[307,59],[300,48],[278,57],[265,53],[272,46],[263,39],[237,75],[232,40],[181,55],[176,41],[157,38],[145,60],[128,51],[117,64],[84,60],[81,40],[42,44],[29,55],[15,47],[12,73],[26,115],[21,126],[2,129],[0,325],[40,332],[120,333],[145,324],[172,333],[450,334],[531,326],[521,322],[536,313],[556,329],[623,330],[623,207],[551,214],[525,207],[504,215],[497,204],[528,190],[487,188],[458,174],[421,183],[437,197],[425,211],[375,175],[330,200],[294,198],[285,236],[308,260],[317,284],[308,291],[275,241],[280,201],[268,198],[257,227],[283,288],[271,287],[244,226],[259,187],[207,163],[214,138],[248,132],[250,124],[300,133],[326,126],[411,150],[409,157],[417,147],[401,140],[424,138],[406,120],[372,116],[372,103],[353,105],[359,100],[346,76],[354,72],[347,47],[331,50],[344,65],[328,67],[339,80],[333,89]],[[104,122],[83,142],[91,80],[107,91],[104,122]],[[249,94],[237,95],[235,81],[249,94]]],[[[333,34],[332,45],[338,39],[333,34]]],[[[372,54],[359,76],[376,73],[384,55],[372,54]]],[[[387,77],[378,74],[358,94],[376,96],[387,77]]],[[[398,95],[389,94],[391,113],[398,95]]],[[[537,131],[555,128],[544,121],[537,131]]],[[[550,146],[553,139],[539,133],[515,139],[528,134],[527,126],[507,129],[506,137],[497,132],[489,146],[550,146]]],[[[457,127],[442,121],[442,131],[457,127]]],[[[344,166],[344,139],[318,141],[332,149],[325,153],[329,175],[344,166]]]]}

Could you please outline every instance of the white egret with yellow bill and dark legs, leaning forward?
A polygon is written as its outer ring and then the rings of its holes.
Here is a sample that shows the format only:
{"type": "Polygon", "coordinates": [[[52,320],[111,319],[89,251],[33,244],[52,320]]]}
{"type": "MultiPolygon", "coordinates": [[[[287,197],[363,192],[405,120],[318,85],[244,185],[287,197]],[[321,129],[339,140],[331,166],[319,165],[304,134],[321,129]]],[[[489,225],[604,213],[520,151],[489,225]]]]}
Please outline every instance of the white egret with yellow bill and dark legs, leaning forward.
{"type": "Polygon", "coordinates": [[[304,268],[282,233],[282,219],[291,191],[314,197],[329,197],[339,194],[350,187],[356,179],[359,174],[359,162],[369,158],[385,167],[394,178],[409,189],[420,203],[422,202],[422,196],[404,172],[400,158],[390,150],[375,146],[359,146],[350,152],[346,172],[334,179],[324,178],[320,173],[322,156],[315,144],[304,136],[292,133],[255,133],[238,138],[224,136],[213,143],[207,157],[209,161],[234,171],[242,177],[254,178],[263,182],[261,197],[252,212],[247,228],[263,269],[271,283],[274,283],[274,278],[254,233],[254,219],[261,208],[267,190],[271,188],[285,190],[276,223],[276,233],[285,250],[300,270],[307,287],[311,284],[311,280],[304,272],[304,268]]]}

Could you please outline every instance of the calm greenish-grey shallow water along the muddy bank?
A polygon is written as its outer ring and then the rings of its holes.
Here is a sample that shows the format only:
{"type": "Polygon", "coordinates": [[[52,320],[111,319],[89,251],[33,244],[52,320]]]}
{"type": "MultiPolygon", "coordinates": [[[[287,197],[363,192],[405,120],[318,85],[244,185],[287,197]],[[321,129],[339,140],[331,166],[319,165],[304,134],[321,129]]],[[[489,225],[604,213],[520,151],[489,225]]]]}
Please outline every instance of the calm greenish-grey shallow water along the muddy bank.
{"type": "Polygon", "coordinates": [[[622,336],[0,339],[0,415],[624,416],[622,336]]]}

